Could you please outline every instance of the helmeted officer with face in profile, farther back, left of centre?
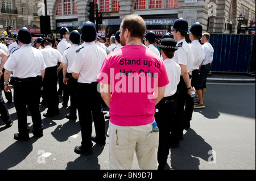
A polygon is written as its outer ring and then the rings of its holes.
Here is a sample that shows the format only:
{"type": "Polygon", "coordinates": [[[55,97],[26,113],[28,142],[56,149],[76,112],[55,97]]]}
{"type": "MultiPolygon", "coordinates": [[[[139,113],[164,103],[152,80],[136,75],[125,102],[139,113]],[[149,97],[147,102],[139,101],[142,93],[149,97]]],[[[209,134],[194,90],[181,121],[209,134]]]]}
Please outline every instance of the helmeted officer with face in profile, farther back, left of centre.
{"type": "MultiPolygon", "coordinates": [[[[68,47],[71,47],[71,44],[69,43],[69,37],[70,32],[68,28],[62,27],[60,28],[60,43],[57,45],[57,50],[60,51],[61,56],[63,56],[65,49],[68,47]]],[[[63,94],[63,103],[62,105],[67,108],[68,107],[68,100],[69,100],[69,94],[68,94],[68,86],[63,83],[63,70],[60,70],[60,74],[58,74],[59,77],[59,90],[58,94],[63,94]]]]}

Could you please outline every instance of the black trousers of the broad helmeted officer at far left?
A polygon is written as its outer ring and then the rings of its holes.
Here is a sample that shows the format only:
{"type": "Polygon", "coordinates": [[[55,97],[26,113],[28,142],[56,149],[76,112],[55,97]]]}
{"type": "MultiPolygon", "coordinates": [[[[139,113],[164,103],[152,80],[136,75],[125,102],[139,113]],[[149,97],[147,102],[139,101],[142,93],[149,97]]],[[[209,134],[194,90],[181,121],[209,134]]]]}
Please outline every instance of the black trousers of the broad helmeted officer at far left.
{"type": "Polygon", "coordinates": [[[14,85],[14,104],[20,136],[28,136],[27,108],[31,112],[34,131],[37,132],[42,129],[42,118],[39,110],[41,86],[42,83],[37,78],[30,81],[19,81],[14,85]]]}

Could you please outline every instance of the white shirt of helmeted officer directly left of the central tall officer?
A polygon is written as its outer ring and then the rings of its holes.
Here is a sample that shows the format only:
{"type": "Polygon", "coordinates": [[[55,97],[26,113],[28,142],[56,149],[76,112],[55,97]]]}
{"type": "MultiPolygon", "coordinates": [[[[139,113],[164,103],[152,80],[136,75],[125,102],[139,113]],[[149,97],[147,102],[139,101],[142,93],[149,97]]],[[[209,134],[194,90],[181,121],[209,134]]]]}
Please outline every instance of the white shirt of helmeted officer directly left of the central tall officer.
{"type": "Polygon", "coordinates": [[[67,71],[68,73],[71,73],[71,66],[75,60],[76,50],[79,48],[79,45],[73,44],[71,47],[67,48],[64,51],[63,57],[61,58],[61,62],[63,64],[68,64],[67,71]]]}

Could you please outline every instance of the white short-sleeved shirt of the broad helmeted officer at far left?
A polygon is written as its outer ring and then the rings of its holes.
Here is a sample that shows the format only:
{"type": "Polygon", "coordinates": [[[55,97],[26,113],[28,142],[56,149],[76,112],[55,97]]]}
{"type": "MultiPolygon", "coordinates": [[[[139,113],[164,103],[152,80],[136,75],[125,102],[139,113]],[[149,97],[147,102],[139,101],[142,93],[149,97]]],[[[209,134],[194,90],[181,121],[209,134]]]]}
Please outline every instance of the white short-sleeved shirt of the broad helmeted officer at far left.
{"type": "Polygon", "coordinates": [[[3,68],[13,71],[13,77],[28,78],[41,75],[46,65],[41,51],[25,44],[10,55],[3,68]]]}

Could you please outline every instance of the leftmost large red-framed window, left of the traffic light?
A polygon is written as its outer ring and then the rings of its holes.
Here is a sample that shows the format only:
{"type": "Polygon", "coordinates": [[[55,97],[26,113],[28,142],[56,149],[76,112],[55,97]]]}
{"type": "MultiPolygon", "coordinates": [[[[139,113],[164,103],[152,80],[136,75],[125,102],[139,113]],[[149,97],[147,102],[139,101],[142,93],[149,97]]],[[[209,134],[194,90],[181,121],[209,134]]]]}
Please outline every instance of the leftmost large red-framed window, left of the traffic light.
{"type": "Polygon", "coordinates": [[[60,0],[57,5],[56,15],[77,14],[77,5],[75,0],[60,0]]]}

